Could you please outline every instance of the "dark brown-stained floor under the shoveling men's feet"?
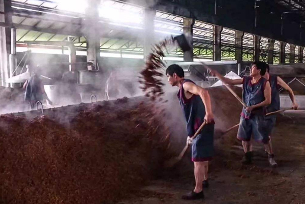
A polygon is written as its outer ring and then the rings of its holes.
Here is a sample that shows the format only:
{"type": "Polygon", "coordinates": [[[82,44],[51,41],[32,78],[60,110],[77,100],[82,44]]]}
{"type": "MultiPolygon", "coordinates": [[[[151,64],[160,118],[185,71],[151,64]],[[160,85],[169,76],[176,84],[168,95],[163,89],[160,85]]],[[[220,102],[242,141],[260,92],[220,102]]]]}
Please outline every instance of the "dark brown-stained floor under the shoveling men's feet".
{"type": "Polygon", "coordinates": [[[151,181],[138,195],[119,203],[305,203],[305,110],[279,115],[272,143],[279,164],[276,169],[268,165],[261,144],[254,145],[254,164],[250,166],[240,164],[240,144],[220,145],[211,163],[210,188],[205,190],[204,200],[180,199],[194,188],[190,169],[177,178],[151,181]]]}

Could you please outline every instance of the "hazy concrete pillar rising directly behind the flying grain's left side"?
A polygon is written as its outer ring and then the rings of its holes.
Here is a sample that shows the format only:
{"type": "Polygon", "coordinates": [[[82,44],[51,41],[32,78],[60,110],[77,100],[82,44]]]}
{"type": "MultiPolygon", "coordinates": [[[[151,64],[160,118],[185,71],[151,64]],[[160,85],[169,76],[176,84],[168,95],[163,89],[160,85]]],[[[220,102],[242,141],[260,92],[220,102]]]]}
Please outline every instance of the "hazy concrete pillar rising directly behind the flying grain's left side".
{"type": "Polygon", "coordinates": [[[155,43],[155,16],[155,9],[144,9],[144,61],[151,53],[151,48],[155,43]]]}

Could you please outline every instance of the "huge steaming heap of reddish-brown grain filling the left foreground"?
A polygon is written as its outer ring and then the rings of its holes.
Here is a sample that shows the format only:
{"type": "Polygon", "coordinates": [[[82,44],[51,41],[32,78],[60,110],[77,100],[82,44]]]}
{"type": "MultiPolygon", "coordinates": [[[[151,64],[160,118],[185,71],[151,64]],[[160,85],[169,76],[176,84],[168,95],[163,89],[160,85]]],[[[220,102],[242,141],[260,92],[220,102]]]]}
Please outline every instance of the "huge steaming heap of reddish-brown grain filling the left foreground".
{"type": "Polygon", "coordinates": [[[0,117],[1,203],[112,203],[151,179],[168,147],[129,100],[0,117]]]}

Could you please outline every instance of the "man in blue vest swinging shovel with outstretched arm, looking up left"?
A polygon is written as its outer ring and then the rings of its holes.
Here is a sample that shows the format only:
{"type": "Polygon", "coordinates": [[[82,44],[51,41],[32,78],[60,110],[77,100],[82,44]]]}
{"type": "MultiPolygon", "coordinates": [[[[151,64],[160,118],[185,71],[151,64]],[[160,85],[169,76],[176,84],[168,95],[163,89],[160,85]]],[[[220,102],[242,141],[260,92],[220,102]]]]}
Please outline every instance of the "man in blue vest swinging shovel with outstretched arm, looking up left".
{"type": "Polygon", "coordinates": [[[262,62],[254,62],[251,66],[251,76],[242,79],[229,79],[215,70],[210,71],[227,84],[242,84],[242,98],[247,106],[242,109],[237,133],[237,138],[242,141],[245,151],[242,164],[252,163],[251,135],[256,141],[262,142],[269,151],[269,137],[264,126],[264,118],[266,107],[271,103],[271,88],[270,83],[263,77],[266,71],[266,66],[262,62]]]}

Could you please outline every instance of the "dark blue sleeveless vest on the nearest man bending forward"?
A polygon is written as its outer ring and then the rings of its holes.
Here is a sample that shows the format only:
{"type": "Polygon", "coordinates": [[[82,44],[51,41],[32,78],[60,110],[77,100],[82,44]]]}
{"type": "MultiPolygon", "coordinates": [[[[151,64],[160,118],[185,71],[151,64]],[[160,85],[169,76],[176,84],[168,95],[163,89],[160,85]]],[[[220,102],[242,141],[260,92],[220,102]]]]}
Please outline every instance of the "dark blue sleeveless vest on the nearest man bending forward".
{"type": "Polygon", "coordinates": [[[205,106],[198,95],[193,95],[187,99],[184,94],[183,84],[185,82],[193,82],[190,79],[184,79],[177,94],[185,119],[187,120],[188,136],[193,136],[204,122],[205,106]]]}

